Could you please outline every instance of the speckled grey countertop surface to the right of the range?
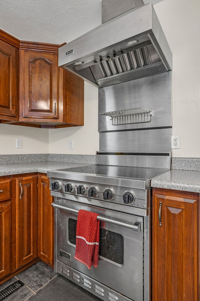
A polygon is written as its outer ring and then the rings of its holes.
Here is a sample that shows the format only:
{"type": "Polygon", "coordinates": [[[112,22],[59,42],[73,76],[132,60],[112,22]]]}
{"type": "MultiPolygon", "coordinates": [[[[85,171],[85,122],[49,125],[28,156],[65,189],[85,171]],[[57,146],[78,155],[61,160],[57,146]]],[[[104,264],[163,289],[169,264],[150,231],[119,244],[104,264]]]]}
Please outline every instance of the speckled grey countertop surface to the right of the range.
{"type": "Polygon", "coordinates": [[[152,179],[151,187],[200,192],[200,171],[172,169],[152,179]]]}

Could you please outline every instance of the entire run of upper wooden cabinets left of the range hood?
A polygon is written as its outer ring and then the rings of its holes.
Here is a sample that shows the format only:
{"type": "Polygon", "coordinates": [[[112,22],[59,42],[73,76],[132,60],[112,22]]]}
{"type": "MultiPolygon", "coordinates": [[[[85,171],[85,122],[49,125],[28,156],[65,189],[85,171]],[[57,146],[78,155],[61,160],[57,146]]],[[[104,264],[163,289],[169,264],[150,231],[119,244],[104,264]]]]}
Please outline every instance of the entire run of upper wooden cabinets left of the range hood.
{"type": "Polygon", "coordinates": [[[58,67],[59,47],[0,30],[0,123],[83,126],[84,81],[58,67]]]}

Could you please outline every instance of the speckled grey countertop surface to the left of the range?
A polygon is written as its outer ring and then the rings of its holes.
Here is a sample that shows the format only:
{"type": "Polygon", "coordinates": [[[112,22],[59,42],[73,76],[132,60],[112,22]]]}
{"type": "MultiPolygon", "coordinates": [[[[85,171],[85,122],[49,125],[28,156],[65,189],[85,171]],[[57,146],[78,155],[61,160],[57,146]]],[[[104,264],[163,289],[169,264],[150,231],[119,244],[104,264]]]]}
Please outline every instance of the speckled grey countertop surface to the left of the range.
{"type": "Polygon", "coordinates": [[[88,165],[91,164],[53,161],[0,164],[0,176],[26,174],[31,172],[47,173],[48,170],[61,170],[71,167],[88,165]]]}

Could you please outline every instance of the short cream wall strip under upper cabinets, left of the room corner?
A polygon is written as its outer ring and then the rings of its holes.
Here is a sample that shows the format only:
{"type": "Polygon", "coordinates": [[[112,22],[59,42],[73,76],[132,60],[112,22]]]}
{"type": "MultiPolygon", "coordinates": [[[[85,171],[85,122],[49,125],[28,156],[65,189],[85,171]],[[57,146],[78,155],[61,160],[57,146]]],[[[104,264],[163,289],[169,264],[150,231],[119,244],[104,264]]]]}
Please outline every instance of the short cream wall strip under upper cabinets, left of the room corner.
{"type": "Polygon", "coordinates": [[[48,129],[0,124],[0,154],[48,153],[48,129]],[[22,148],[16,148],[16,138],[22,148]]]}

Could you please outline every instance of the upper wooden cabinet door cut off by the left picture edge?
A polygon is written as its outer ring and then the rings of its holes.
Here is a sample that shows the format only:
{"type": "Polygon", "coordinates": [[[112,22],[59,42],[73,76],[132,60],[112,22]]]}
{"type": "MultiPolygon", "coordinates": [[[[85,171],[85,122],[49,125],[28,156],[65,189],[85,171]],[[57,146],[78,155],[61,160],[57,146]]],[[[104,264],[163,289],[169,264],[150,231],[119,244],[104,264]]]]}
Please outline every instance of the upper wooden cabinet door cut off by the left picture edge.
{"type": "Polygon", "coordinates": [[[5,120],[17,117],[17,59],[17,48],[0,40],[0,117],[5,120]]]}

